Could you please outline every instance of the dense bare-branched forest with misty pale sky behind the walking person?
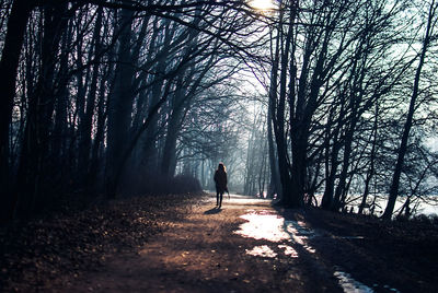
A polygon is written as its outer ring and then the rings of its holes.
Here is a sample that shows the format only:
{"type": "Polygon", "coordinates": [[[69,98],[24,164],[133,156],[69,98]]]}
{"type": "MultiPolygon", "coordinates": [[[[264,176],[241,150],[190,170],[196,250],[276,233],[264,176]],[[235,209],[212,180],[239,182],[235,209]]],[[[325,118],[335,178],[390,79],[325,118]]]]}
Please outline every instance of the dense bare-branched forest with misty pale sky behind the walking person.
{"type": "Polygon", "coordinates": [[[412,213],[438,188],[438,2],[0,0],[0,214],[230,188],[412,213]],[[434,146],[435,145],[435,146],[434,146]],[[199,186],[200,184],[200,186],[199,186]],[[403,198],[401,209],[395,201],[403,198]]]}

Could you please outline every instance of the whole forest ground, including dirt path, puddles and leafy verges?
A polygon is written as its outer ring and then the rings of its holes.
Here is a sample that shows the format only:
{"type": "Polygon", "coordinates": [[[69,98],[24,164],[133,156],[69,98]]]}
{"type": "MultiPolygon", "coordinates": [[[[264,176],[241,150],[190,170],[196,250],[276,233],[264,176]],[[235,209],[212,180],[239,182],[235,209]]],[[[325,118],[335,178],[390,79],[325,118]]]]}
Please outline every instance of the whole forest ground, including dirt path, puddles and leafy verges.
{"type": "Polygon", "coordinates": [[[142,197],[0,230],[1,292],[437,292],[438,227],[232,195],[142,197]]]}

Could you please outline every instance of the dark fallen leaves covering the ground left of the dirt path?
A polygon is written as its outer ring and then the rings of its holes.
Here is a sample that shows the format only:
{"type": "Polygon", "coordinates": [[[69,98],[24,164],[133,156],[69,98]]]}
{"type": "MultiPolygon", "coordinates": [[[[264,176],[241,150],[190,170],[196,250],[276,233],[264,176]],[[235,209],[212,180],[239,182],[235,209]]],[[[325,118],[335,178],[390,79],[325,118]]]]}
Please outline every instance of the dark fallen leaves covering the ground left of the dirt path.
{"type": "Polygon", "coordinates": [[[0,289],[38,291],[99,270],[110,256],[135,251],[169,228],[169,219],[185,214],[196,198],[124,198],[0,227],[0,289]]]}

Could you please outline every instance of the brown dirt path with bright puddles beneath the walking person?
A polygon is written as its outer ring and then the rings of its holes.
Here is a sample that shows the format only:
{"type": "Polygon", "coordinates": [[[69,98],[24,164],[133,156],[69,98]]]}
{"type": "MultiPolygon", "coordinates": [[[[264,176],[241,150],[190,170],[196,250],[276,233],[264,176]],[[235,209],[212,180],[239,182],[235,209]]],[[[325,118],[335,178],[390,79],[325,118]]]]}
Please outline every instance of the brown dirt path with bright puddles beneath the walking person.
{"type": "Polygon", "coordinates": [[[306,244],[313,231],[299,219],[285,221],[263,199],[232,195],[222,209],[215,203],[206,196],[137,254],[114,256],[67,291],[343,291],[334,268],[306,244]]]}

